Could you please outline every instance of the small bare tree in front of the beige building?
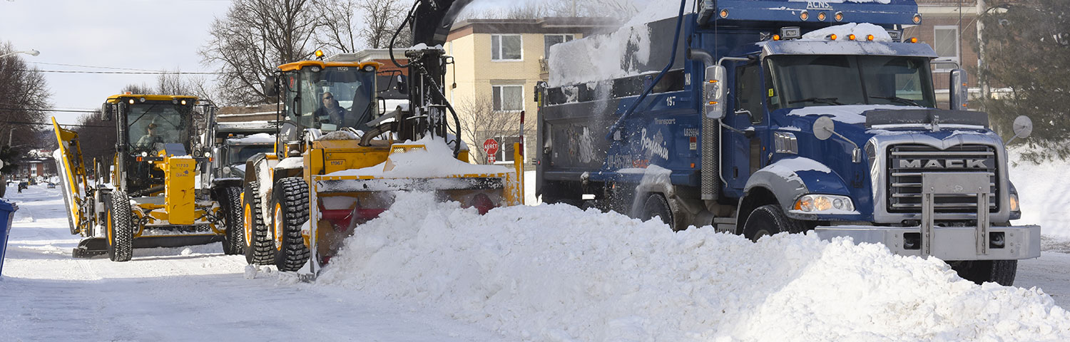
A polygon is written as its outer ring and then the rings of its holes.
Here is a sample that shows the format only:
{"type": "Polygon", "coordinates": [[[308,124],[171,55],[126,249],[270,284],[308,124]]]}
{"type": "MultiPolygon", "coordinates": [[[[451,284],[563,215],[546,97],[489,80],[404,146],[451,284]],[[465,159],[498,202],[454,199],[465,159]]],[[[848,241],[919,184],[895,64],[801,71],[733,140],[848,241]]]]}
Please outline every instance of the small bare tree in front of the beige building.
{"type": "MultiPolygon", "coordinates": [[[[461,139],[471,141],[476,146],[470,146],[470,155],[476,162],[487,162],[487,152],[483,142],[487,138],[516,137],[520,131],[520,114],[516,111],[494,110],[493,100],[486,95],[461,98],[457,104],[457,114],[461,122],[461,139]]],[[[524,127],[524,136],[535,134],[534,125],[524,127]]],[[[504,144],[504,141],[499,141],[504,144]]],[[[503,151],[511,147],[499,146],[503,151]]]]}

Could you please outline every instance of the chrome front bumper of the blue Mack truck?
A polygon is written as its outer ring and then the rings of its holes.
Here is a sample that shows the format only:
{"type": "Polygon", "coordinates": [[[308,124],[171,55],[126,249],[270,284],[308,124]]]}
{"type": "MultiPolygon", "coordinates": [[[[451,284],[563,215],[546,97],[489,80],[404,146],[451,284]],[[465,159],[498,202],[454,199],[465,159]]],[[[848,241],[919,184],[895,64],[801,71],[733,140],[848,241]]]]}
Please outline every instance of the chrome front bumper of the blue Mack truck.
{"type": "Polygon", "coordinates": [[[822,239],[850,236],[855,244],[884,244],[900,255],[933,255],[941,260],[1020,260],[1040,256],[1040,226],[987,227],[983,238],[987,248],[973,242],[978,239],[977,227],[936,227],[929,233],[929,253],[922,252],[921,227],[836,226],[817,227],[814,233],[822,239]],[[1002,235],[1003,245],[998,246],[1002,235]],[[993,244],[993,239],[996,244],[993,244]]]}

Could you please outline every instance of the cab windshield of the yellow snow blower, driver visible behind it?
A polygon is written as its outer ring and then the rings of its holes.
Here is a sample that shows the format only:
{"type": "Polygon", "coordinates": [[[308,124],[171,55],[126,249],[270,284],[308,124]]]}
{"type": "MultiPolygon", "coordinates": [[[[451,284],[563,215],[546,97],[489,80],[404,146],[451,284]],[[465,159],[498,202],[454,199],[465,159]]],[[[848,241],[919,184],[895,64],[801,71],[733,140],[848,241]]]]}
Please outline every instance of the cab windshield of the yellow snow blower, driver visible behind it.
{"type": "MultiPolygon", "coordinates": [[[[355,66],[328,66],[301,71],[300,121],[304,127],[336,130],[371,121],[374,105],[374,72],[355,66]]],[[[293,100],[293,99],[291,99],[293,100]]]]}

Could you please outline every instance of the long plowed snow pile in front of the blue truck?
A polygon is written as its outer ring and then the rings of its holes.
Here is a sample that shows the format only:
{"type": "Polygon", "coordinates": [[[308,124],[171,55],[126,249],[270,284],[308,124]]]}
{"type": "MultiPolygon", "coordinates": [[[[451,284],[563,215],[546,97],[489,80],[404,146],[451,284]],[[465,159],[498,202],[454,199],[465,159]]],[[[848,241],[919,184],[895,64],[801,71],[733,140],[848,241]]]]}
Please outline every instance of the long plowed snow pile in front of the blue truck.
{"type": "Polygon", "coordinates": [[[449,312],[535,341],[1068,341],[1037,290],[975,285],[878,245],[712,229],[566,205],[479,216],[401,193],[319,283],[449,312]]]}

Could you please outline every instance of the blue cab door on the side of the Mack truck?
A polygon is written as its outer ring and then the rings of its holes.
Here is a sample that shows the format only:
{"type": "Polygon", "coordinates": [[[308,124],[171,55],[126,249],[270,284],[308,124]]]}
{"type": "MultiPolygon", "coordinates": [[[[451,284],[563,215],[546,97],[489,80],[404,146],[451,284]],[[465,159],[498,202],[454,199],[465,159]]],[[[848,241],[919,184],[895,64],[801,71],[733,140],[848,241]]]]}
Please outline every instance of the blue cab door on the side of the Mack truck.
{"type": "Polygon", "coordinates": [[[739,131],[725,130],[724,180],[730,188],[743,189],[747,178],[765,162],[762,155],[761,138],[767,133],[765,110],[765,87],[762,84],[762,67],[755,60],[737,63],[733,73],[735,83],[731,89],[734,98],[733,113],[728,124],[739,131]]]}

